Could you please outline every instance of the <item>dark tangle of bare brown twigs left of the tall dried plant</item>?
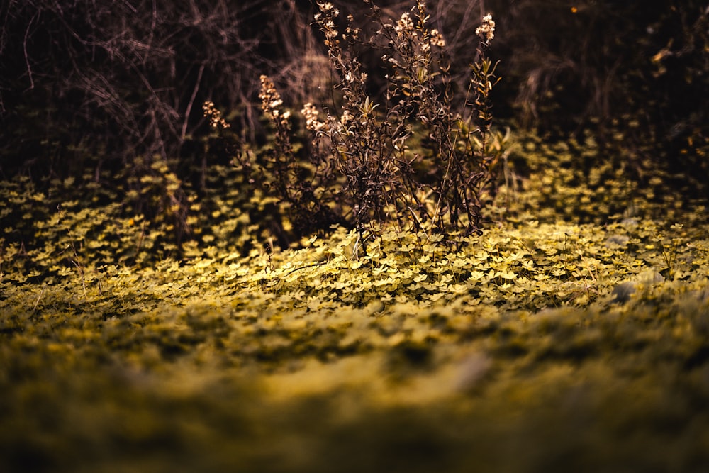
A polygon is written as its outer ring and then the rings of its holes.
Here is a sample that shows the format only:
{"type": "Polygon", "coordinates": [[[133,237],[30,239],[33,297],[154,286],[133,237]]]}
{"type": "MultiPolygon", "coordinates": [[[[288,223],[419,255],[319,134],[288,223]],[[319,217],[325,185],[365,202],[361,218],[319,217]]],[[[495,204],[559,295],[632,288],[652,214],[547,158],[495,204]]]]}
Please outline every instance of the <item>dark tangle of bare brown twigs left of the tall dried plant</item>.
{"type": "Polygon", "coordinates": [[[308,43],[301,13],[282,3],[4,2],[0,177],[29,177],[43,194],[73,179],[82,201],[111,189],[125,218],[169,221],[165,239],[182,245],[194,237],[194,199],[211,190],[207,160],[218,164],[203,152],[199,104],[228,106],[251,140],[259,71],[305,54],[292,46],[308,43]]]}

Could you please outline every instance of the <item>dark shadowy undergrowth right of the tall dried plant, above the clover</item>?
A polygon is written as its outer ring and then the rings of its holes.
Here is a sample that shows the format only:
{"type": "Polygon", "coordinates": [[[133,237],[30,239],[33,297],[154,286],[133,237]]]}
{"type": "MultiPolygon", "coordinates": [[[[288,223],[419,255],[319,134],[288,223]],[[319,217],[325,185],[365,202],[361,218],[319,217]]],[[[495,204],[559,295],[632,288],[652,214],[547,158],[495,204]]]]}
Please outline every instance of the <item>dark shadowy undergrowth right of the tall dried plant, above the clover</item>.
{"type": "Polygon", "coordinates": [[[697,100],[709,90],[705,2],[495,7],[505,12],[498,55],[518,94],[518,123],[557,138],[592,131],[605,152],[622,153],[641,185],[643,174],[661,172],[676,198],[706,198],[709,121],[697,100]]]}

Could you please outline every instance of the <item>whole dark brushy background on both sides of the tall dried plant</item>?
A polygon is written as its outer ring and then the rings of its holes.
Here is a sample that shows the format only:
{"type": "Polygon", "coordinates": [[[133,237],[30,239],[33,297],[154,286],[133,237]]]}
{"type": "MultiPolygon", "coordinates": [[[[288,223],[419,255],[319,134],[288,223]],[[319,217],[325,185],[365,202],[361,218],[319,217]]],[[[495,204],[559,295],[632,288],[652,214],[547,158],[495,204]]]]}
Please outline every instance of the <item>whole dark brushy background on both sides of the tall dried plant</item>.
{"type": "MultiPolygon", "coordinates": [[[[333,3],[340,18],[352,13],[371,32],[364,3],[333,3]]],[[[413,6],[379,5],[392,18],[413,6]]],[[[627,161],[628,179],[642,184],[649,169],[662,169],[664,189],[706,198],[705,2],[428,6],[459,89],[476,54],[474,30],[483,13],[493,13],[490,55],[503,77],[493,91],[496,126],[547,140],[590,133],[608,157],[627,161]]],[[[4,0],[0,179],[23,177],[40,190],[67,177],[77,187],[115,187],[155,174],[153,163],[162,159],[179,185],[204,185],[194,169],[207,157],[223,164],[229,157],[209,155],[203,101],[213,101],[241,140],[255,144],[266,140],[260,74],[272,77],[294,111],[328,101],[330,68],[311,25],[315,11],[306,0],[4,0]]],[[[379,54],[361,54],[376,96],[384,86],[379,54]]]]}

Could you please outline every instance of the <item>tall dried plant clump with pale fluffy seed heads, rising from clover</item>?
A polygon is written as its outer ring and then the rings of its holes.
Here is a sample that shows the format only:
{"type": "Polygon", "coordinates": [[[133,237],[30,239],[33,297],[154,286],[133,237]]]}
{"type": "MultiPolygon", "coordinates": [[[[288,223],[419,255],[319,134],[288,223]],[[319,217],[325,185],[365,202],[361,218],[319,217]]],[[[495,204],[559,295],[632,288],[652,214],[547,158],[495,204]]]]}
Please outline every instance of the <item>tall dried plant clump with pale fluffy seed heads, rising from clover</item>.
{"type": "MultiPolygon", "coordinates": [[[[257,155],[242,150],[240,167],[256,187],[287,206],[303,233],[333,223],[349,223],[360,236],[365,226],[393,221],[401,230],[463,235],[480,233],[485,192],[495,180],[501,139],[491,130],[496,65],[487,57],[495,24],[486,16],[477,28],[478,55],[471,65],[466,100],[452,101],[445,40],[428,28],[423,1],[396,23],[382,19],[379,7],[365,2],[379,30],[372,40],[347,17],[337,28],[339,10],[318,4],[316,23],[325,36],[336,101],[303,106],[311,143],[305,156],[291,143],[291,113],[273,82],[262,76],[262,110],[274,129],[273,145],[257,155]],[[389,68],[384,100],[367,93],[368,74],[359,59],[363,45],[384,52],[389,68]],[[458,108],[458,109],[457,109],[458,108]]],[[[206,105],[212,124],[228,126],[206,105]]],[[[364,241],[361,242],[364,245],[364,241]]]]}

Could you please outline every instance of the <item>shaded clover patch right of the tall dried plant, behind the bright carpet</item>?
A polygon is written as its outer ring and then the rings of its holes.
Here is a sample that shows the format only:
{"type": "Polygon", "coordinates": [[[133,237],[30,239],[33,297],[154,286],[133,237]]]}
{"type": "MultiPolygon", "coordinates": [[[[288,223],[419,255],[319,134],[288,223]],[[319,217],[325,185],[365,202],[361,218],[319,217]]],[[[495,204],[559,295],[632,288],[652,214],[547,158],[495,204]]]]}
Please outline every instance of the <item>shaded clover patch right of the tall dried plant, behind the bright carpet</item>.
{"type": "MultiPolygon", "coordinates": [[[[621,148],[623,138],[617,138],[621,148]]],[[[705,221],[705,199],[678,194],[669,172],[626,158],[623,151],[599,145],[590,132],[582,141],[517,135],[508,145],[504,184],[491,214],[550,223],[605,224],[638,217],[705,221]]]]}

